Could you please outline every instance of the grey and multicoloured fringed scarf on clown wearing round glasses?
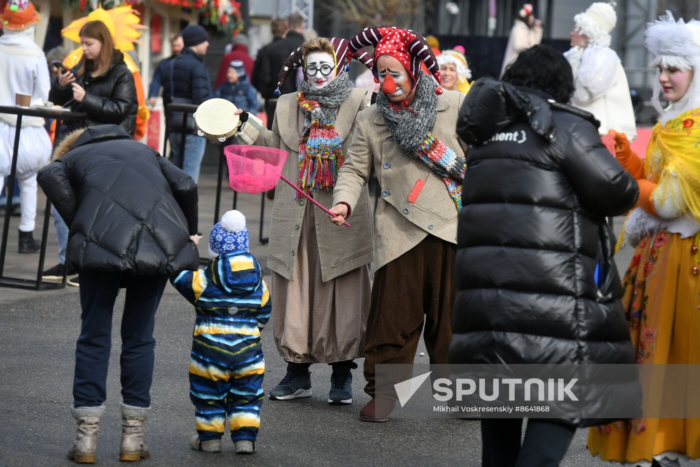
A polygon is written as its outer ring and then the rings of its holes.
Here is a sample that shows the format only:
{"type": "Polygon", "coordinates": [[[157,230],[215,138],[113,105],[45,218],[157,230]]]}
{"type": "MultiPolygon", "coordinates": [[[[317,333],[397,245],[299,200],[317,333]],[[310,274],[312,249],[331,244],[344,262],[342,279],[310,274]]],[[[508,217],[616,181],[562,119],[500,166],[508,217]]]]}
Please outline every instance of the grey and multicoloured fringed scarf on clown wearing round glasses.
{"type": "MultiPolygon", "coordinates": [[[[352,90],[346,73],[339,74],[323,88],[304,80],[299,85],[297,104],[304,114],[299,142],[299,182],[304,193],[332,190],[343,165],[343,140],[335,129],[337,109],[352,90]]],[[[297,194],[298,196],[298,194],[297,194]]]]}

